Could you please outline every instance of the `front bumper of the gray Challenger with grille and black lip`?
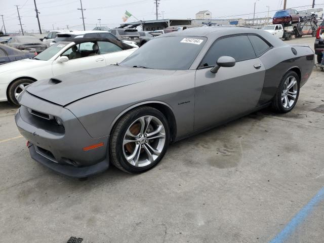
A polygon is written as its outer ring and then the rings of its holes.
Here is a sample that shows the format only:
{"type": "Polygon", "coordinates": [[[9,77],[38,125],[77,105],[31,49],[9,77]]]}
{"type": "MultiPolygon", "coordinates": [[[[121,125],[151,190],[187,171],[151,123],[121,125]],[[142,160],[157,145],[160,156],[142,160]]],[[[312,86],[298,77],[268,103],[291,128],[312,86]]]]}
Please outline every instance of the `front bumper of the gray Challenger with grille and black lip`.
{"type": "Polygon", "coordinates": [[[31,157],[52,170],[71,177],[87,177],[109,167],[109,136],[92,138],[74,114],[64,107],[40,100],[25,92],[15,115],[19,132],[30,142],[31,157]],[[58,116],[64,128],[30,114],[27,107],[58,116]],[[103,143],[101,147],[83,148],[103,143]]]}

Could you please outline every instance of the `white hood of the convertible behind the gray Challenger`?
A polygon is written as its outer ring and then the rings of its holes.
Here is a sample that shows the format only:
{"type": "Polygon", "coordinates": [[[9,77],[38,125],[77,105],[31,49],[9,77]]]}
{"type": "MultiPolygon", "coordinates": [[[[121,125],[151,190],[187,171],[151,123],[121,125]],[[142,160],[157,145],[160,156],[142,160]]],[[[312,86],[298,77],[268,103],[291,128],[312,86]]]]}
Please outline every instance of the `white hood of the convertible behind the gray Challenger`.
{"type": "Polygon", "coordinates": [[[48,64],[47,61],[35,60],[35,59],[22,59],[11,63],[3,64],[0,66],[0,73],[18,70],[29,70],[34,67],[39,67],[43,64],[48,64]]]}

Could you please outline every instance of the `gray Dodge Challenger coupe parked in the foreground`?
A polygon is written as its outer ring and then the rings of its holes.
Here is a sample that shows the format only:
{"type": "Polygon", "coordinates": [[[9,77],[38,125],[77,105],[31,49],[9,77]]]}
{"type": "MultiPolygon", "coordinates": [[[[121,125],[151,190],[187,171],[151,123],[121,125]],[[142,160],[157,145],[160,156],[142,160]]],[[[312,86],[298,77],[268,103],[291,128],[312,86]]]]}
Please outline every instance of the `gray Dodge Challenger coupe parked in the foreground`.
{"type": "Polygon", "coordinates": [[[155,37],[123,62],[39,80],[15,115],[33,159],[84,178],[145,172],[169,143],[269,105],[294,108],[314,64],[250,28],[192,28],[155,37]]]}

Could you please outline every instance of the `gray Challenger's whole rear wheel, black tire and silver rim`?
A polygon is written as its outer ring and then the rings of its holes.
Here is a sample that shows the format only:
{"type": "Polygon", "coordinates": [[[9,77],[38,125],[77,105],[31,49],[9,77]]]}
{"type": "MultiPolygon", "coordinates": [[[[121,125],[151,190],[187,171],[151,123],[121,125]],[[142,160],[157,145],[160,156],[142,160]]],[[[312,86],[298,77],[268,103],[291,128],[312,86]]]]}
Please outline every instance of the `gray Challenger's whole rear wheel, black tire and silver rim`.
{"type": "Polygon", "coordinates": [[[298,74],[294,71],[288,71],[280,80],[280,84],[272,100],[272,108],[278,113],[287,113],[291,111],[298,101],[299,89],[300,79],[298,74]],[[291,88],[287,87],[287,84],[289,86],[291,82],[294,85],[291,88]],[[281,100],[284,96],[285,98],[281,100]],[[286,100],[286,97],[288,100],[286,100]]]}

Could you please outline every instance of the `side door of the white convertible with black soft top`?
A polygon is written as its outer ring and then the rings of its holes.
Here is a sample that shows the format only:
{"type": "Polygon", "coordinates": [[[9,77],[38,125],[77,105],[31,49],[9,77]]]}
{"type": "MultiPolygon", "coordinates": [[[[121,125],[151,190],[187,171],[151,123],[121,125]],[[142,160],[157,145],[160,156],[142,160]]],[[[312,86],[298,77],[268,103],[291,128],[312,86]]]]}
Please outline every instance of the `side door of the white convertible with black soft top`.
{"type": "MultiPolygon", "coordinates": [[[[59,58],[54,60],[52,64],[53,75],[56,76],[90,68],[104,67],[105,59],[102,55],[90,55],[93,51],[92,47],[94,44],[93,42],[86,42],[76,45],[78,55],[76,55],[76,58],[70,59],[67,62],[59,63],[59,58]]],[[[72,48],[73,47],[69,48],[61,56],[70,58],[72,56],[70,55],[72,53],[72,48]]]]}

